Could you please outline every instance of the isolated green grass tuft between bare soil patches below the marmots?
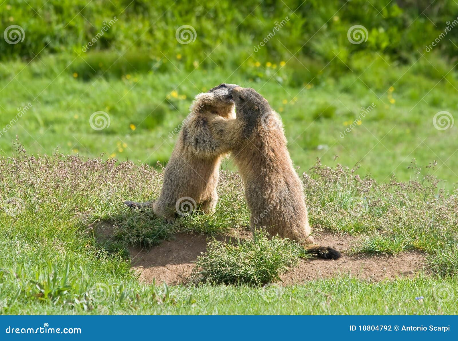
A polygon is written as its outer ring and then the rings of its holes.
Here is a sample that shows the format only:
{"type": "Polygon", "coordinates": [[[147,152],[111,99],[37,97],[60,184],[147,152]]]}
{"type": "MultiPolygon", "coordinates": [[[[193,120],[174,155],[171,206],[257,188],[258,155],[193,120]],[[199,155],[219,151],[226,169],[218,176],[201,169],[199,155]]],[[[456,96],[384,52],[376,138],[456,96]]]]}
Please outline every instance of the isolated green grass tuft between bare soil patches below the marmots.
{"type": "Polygon", "coordinates": [[[207,253],[197,257],[194,281],[215,284],[262,285],[309,257],[302,246],[278,236],[267,238],[258,231],[253,239],[235,239],[229,243],[213,239],[207,253]]]}

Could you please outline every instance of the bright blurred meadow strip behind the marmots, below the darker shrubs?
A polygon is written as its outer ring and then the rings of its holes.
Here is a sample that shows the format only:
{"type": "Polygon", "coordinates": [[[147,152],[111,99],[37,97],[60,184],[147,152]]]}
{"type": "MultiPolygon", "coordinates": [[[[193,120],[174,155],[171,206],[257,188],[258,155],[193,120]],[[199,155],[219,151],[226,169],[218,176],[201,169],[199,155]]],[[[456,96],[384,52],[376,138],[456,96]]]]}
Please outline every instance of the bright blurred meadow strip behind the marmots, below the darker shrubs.
{"type": "MultiPolygon", "coordinates": [[[[0,103],[5,114],[0,117],[0,127],[6,127],[15,118],[17,107],[32,105],[16,124],[2,133],[0,152],[5,156],[11,155],[11,140],[18,135],[29,153],[49,154],[60,147],[64,154],[88,157],[104,154],[105,159],[112,156],[150,165],[158,160],[165,164],[192,98],[227,81],[254,87],[270,101],[282,116],[291,157],[303,169],[311,167],[317,157],[333,166],[338,155],[337,161],[350,167],[360,162],[358,172],[369,173],[377,181],[387,181],[393,173],[398,179],[408,180],[411,173],[407,167],[415,158],[420,166],[437,162],[432,173],[444,180],[441,186],[452,189],[457,180],[455,146],[450,143],[457,127],[437,130],[433,117],[440,111],[454,115],[458,81],[421,76],[410,65],[389,66],[376,54],[365,61],[369,66],[376,60],[367,70],[356,70],[360,60],[355,59],[349,64],[354,72],[341,76],[338,82],[327,78],[310,89],[304,85],[279,84],[274,78],[269,80],[267,75],[277,70],[265,65],[256,67],[254,60],[247,60],[247,67],[259,70],[266,79],[251,80],[246,72],[219,68],[207,71],[199,67],[188,72],[175,59],[172,62],[178,69],[173,72],[134,73],[122,79],[115,75],[105,79],[105,75],[81,81],[80,76],[72,76],[76,68],[71,66],[60,74],[65,62],[59,58],[42,60],[45,65],[55,65],[55,71],[46,69],[50,74],[34,76],[35,68],[44,67],[40,61],[34,60],[29,65],[3,63],[11,73],[0,80],[0,88],[5,87],[0,103]],[[383,79],[371,81],[374,73],[381,70],[383,79]],[[363,72],[361,76],[360,72],[363,72]],[[398,80],[400,74],[404,76],[398,80]],[[414,89],[425,97],[413,96],[414,89]],[[371,103],[375,105],[373,110],[342,138],[349,124],[360,118],[360,108],[371,103]],[[106,129],[91,128],[90,117],[97,111],[109,115],[106,129]]],[[[440,63],[440,59],[430,54],[415,65],[434,70],[440,63]]],[[[447,71],[452,67],[447,65],[447,71]]],[[[292,66],[287,64],[277,75],[288,81],[289,70],[292,66]]],[[[234,169],[231,162],[225,163],[226,167],[234,169]]]]}

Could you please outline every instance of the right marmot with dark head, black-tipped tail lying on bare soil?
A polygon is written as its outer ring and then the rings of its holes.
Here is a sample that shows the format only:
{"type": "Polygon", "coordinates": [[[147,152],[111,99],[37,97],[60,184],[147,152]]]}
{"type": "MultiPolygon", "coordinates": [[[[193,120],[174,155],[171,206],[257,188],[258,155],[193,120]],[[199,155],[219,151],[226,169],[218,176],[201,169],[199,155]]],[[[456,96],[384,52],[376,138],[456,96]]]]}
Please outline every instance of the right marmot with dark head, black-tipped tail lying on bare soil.
{"type": "Polygon", "coordinates": [[[312,254],[338,259],[340,252],[317,245],[305,206],[304,189],[289,157],[280,116],[251,88],[232,90],[236,118],[209,123],[215,138],[232,149],[245,184],[251,230],[300,242],[312,254]]]}

